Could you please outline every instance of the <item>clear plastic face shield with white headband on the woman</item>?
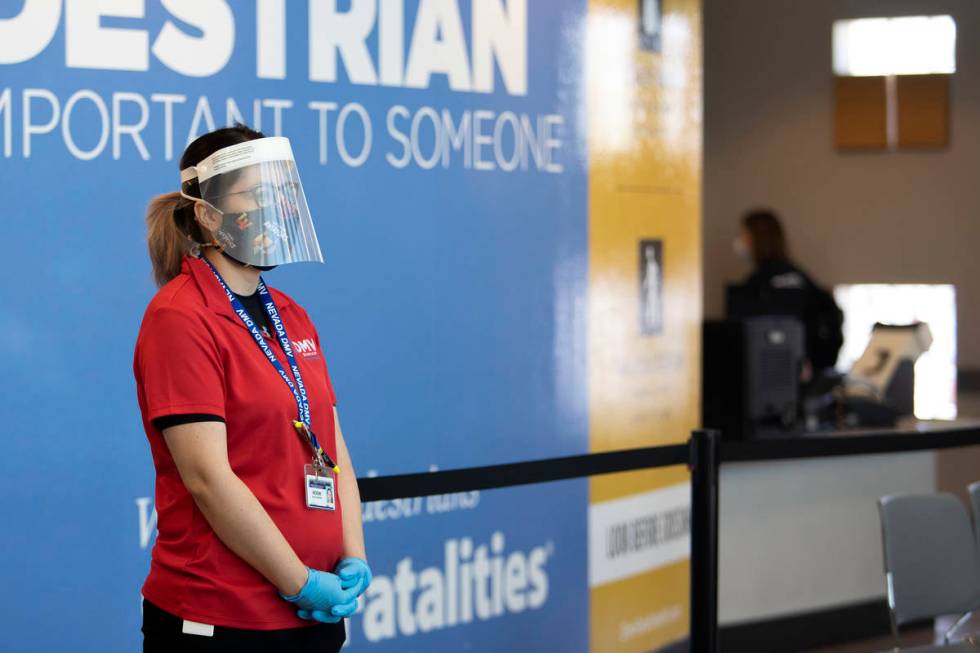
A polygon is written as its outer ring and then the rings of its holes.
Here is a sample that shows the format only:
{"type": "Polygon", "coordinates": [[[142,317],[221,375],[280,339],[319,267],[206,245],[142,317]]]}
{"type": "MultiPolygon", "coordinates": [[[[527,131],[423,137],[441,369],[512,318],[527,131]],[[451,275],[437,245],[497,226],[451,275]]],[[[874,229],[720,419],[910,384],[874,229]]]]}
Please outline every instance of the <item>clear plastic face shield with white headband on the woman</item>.
{"type": "Polygon", "coordinates": [[[181,195],[221,214],[214,237],[237,261],[267,267],[323,262],[289,139],[222,148],[180,173],[181,195]]]}

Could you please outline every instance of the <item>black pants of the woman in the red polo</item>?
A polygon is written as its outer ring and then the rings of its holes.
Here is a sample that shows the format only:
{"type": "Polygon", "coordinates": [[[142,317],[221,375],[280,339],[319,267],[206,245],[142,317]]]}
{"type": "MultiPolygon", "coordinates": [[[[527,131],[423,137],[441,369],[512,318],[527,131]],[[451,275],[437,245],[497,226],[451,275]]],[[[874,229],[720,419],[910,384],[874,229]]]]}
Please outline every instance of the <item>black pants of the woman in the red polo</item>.
{"type": "Polygon", "coordinates": [[[214,636],[186,635],[184,620],[143,599],[143,653],[337,653],[347,639],[344,623],[284,630],[214,627],[214,636]]]}

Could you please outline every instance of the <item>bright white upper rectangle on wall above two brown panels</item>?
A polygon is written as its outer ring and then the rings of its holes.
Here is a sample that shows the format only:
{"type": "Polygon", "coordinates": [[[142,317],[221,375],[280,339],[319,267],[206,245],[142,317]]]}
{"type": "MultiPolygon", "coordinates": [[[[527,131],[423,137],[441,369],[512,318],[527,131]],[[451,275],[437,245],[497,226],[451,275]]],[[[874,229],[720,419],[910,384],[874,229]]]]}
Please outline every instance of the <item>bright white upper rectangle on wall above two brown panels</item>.
{"type": "Polygon", "coordinates": [[[834,22],[834,73],[846,77],[956,72],[952,16],[834,22]]]}

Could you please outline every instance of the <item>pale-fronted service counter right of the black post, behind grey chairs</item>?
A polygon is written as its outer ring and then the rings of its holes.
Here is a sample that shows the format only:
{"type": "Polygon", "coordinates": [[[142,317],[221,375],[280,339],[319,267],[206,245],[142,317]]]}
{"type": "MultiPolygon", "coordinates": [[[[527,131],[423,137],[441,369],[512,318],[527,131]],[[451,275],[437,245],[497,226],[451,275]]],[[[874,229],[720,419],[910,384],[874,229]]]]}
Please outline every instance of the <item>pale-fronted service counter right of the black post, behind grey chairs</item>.
{"type": "Polygon", "coordinates": [[[937,470],[944,458],[972,461],[980,480],[974,445],[978,420],[722,443],[722,628],[883,601],[878,498],[964,492],[937,470]]]}

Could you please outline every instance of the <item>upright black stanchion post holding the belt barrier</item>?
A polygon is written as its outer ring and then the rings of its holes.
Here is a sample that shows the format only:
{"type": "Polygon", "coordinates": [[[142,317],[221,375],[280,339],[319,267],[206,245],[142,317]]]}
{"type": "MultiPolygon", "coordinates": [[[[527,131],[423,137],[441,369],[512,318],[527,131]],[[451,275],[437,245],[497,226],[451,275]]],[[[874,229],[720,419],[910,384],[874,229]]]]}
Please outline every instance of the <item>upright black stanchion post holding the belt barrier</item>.
{"type": "Polygon", "coordinates": [[[691,653],[718,651],[719,437],[691,434],[691,653]]]}

